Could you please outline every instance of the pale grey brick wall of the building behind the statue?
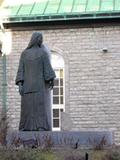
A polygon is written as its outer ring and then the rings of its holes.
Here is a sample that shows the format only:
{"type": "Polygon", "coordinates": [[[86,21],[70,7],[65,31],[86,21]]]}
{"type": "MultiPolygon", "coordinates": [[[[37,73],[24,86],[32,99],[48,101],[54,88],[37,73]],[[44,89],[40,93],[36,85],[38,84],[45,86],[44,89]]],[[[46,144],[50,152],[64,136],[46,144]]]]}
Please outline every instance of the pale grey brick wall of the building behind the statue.
{"type": "MultiPolygon", "coordinates": [[[[71,130],[110,130],[115,143],[120,144],[120,26],[38,30],[49,48],[65,60],[65,111],[72,121],[71,130]]],[[[18,129],[20,117],[15,76],[21,51],[33,31],[13,30],[7,55],[7,107],[14,129],[18,129]]]]}

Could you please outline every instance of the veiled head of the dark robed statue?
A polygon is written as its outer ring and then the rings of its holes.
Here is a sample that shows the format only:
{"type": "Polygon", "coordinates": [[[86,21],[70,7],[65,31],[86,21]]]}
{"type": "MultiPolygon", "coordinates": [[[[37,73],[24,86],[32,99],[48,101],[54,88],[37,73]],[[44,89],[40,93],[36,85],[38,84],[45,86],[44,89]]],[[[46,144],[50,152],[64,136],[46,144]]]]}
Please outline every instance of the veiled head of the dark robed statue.
{"type": "Polygon", "coordinates": [[[32,34],[31,40],[28,44],[27,49],[34,47],[34,46],[41,46],[43,42],[43,35],[41,32],[34,32],[32,34]]]}

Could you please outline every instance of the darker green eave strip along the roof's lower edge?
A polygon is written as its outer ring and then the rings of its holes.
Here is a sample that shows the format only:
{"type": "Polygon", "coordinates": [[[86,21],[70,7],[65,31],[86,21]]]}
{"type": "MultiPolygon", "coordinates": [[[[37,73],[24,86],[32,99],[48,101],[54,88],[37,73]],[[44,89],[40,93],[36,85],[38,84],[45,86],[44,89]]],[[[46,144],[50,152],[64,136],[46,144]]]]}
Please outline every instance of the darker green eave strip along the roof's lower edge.
{"type": "Polygon", "coordinates": [[[22,23],[22,22],[49,22],[49,21],[71,21],[71,20],[89,20],[89,19],[115,19],[120,18],[120,12],[102,12],[102,13],[82,13],[82,14],[64,14],[64,15],[36,15],[36,16],[11,16],[3,17],[3,23],[22,23]]]}

